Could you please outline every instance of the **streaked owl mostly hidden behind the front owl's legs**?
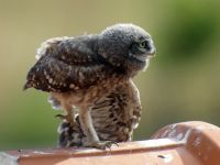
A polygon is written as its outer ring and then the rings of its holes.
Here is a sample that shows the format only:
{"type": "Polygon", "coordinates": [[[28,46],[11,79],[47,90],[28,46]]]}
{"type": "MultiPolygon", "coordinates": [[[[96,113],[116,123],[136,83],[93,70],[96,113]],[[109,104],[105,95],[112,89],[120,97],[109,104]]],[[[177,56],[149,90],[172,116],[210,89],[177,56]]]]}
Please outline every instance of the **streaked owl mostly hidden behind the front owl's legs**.
{"type": "MultiPolygon", "coordinates": [[[[141,109],[139,91],[132,81],[120,85],[97,100],[90,112],[100,140],[130,141],[133,130],[139,124],[141,109]]],[[[62,147],[82,145],[86,141],[78,117],[75,121],[73,128],[67,121],[63,121],[59,125],[58,134],[62,147]]]]}

